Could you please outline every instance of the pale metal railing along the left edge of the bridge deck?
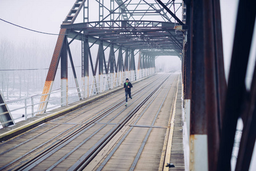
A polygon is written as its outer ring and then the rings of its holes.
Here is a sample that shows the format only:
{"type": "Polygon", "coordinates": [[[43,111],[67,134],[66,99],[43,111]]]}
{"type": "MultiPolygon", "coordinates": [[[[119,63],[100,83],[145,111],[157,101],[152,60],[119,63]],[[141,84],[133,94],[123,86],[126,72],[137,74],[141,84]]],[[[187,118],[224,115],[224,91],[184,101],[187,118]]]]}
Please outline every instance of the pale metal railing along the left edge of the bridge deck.
{"type": "MultiPolygon", "coordinates": [[[[105,78],[103,78],[102,82],[92,82],[91,84],[87,85],[89,87],[89,94],[87,97],[94,96],[100,93],[100,90],[108,91],[111,88],[115,88],[118,86],[123,86],[123,83],[125,82],[125,74],[122,74],[121,80],[120,77],[113,74],[113,78],[110,77],[110,75],[104,75],[105,78]],[[119,84],[121,83],[121,84],[119,84]],[[112,85],[111,85],[112,84],[112,85]],[[100,85],[103,87],[101,88],[100,85]]],[[[137,78],[136,77],[136,72],[132,76],[132,78],[137,78]]],[[[139,79],[139,78],[137,78],[139,79]]],[[[131,80],[133,81],[133,79],[131,80]]],[[[38,94],[34,96],[29,96],[29,97],[24,97],[21,99],[16,99],[16,100],[10,100],[6,101],[6,103],[1,103],[1,105],[7,105],[10,109],[10,115],[13,116],[13,120],[15,123],[21,120],[27,120],[29,117],[34,117],[36,116],[36,113],[44,111],[44,109],[41,109],[38,111],[38,106],[42,103],[47,103],[47,108],[45,109],[46,113],[52,109],[59,108],[63,105],[66,104],[71,104],[74,103],[75,101],[79,101],[79,93],[82,95],[82,99],[86,99],[87,97],[84,96],[83,93],[84,86],[80,87],[72,87],[68,88],[68,101],[65,101],[62,103],[62,97],[66,96],[61,96],[61,90],[56,89],[52,91],[51,93],[47,94],[38,94]],[[78,92],[78,89],[80,89],[80,92],[78,92]],[[50,98],[46,101],[40,101],[41,96],[43,95],[50,95],[50,98]]],[[[63,90],[66,91],[66,90],[63,90]]],[[[4,112],[0,113],[0,115],[3,115],[4,112]]],[[[4,123],[0,123],[0,128],[2,128],[2,125],[4,123]]]]}

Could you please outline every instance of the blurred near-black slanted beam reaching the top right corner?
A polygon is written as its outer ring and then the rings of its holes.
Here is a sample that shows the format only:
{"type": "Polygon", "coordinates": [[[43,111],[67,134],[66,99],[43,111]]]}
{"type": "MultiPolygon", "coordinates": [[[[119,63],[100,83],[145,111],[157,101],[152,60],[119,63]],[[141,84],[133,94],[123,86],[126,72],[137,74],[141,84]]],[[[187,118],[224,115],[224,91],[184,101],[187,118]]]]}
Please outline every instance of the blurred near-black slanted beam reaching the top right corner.
{"type": "MultiPolygon", "coordinates": [[[[245,76],[253,37],[256,1],[239,1],[222,123],[218,170],[230,170],[237,120],[245,107],[245,76]],[[246,27],[241,27],[246,26],[246,27]]],[[[255,124],[255,123],[254,123],[255,124]]],[[[239,158],[239,157],[238,157],[239,158]]],[[[240,164],[239,164],[240,165],[240,164]]],[[[241,164],[243,165],[243,164],[241,164]]],[[[249,167],[249,166],[247,166],[249,167]]]]}

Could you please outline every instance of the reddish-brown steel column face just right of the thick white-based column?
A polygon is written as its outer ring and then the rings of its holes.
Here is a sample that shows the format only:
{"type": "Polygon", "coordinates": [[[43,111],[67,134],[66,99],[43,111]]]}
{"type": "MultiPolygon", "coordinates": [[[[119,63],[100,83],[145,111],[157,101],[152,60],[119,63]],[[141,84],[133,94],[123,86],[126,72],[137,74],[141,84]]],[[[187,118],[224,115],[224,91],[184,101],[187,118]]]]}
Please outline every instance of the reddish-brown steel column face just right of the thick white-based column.
{"type": "MultiPolygon", "coordinates": [[[[220,144],[220,120],[218,118],[218,82],[216,59],[223,59],[223,56],[216,54],[216,34],[215,23],[216,18],[213,0],[203,2],[203,34],[204,34],[204,59],[205,59],[205,112],[207,118],[207,134],[208,134],[208,169],[217,170],[218,149],[220,144]]],[[[221,20],[221,18],[218,18],[221,20]]],[[[220,73],[220,76],[225,73],[220,73]]]]}

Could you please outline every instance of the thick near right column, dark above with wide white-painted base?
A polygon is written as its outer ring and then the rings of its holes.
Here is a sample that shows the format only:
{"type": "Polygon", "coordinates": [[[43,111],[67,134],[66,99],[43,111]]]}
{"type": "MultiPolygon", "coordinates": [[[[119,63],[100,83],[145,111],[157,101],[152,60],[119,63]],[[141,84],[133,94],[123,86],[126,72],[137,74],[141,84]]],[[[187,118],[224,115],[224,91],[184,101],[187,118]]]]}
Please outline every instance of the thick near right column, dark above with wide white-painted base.
{"type": "Polygon", "coordinates": [[[207,116],[205,110],[204,31],[203,2],[195,0],[192,5],[192,64],[190,108],[190,170],[208,170],[207,116]]]}

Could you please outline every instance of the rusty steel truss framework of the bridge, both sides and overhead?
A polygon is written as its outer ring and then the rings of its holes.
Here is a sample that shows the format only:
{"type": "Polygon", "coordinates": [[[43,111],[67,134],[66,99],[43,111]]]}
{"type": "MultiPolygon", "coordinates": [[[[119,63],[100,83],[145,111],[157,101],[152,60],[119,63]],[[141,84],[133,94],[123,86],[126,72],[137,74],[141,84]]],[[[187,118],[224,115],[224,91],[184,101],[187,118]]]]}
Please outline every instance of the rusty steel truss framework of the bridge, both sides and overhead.
{"type": "MultiPolygon", "coordinates": [[[[182,60],[185,121],[189,132],[191,170],[230,170],[237,121],[243,121],[235,170],[248,170],[256,137],[256,68],[251,88],[245,76],[255,25],[256,1],[239,1],[229,79],[225,79],[220,1],[76,0],[60,26],[58,40],[37,113],[46,111],[58,64],[62,105],[67,105],[68,57],[79,99],[92,88],[104,91],[124,82],[155,74],[157,56],[182,60]],[[182,19],[176,11],[182,8],[182,19]],[[98,12],[96,21],[95,11],[98,12]],[[83,22],[75,22],[78,14],[83,22]],[[82,14],[83,13],[83,14],[82,14]],[[78,86],[70,44],[82,44],[82,80],[78,86]],[[97,48],[96,62],[91,48],[97,48]],[[105,54],[105,50],[109,54],[105,54]],[[135,53],[139,52],[137,68],[135,53]],[[116,56],[116,54],[118,54],[116,56]],[[108,75],[104,77],[104,75],[108,75]],[[94,87],[89,87],[92,78],[94,87]],[[107,79],[107,80],[105,80],[107,79]]],[[[3,127],[14,124],[1,95],[3,127]]]]}

